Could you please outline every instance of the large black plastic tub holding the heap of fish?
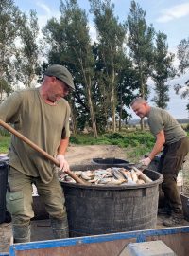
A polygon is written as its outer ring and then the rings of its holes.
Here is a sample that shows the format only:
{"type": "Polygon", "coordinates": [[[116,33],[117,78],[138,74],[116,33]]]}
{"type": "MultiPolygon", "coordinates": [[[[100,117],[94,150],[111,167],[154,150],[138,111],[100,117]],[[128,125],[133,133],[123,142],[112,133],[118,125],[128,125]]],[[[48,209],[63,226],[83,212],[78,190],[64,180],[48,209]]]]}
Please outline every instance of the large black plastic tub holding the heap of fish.
{"type": "MultiPolygon", "coordinates": [[[[86,171],[108,167],[111,166],[77,165],[72,166],[71,170],[86,171]]],[[[153,182],[110,187],[61,182],[70,236],[154,229],[157,221],[159,184],[163,182],[163,175],[151,170],[145,170],[144,174],[153,182]]]]}

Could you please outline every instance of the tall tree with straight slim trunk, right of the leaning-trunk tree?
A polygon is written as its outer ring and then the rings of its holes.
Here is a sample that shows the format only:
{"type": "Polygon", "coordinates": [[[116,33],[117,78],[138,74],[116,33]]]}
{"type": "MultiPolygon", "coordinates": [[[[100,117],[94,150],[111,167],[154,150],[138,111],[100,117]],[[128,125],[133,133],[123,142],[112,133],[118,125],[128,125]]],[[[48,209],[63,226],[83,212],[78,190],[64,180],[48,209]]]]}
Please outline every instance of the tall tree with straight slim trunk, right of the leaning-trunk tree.
{"type": "Polygon", "coordinates": [[[94,24],[97,30],[98,54],[103,64],[101,72],[105,85],[104,99],[110,101],[112,131],[114,132],[116,130],[117,71],[119,69],[119,57],[124,54],[123,44],[126,29],[114,16],[114,5],[111,4],[111,0],[90,0],[90,3],[91,12],[94,13],[94,24]]]}

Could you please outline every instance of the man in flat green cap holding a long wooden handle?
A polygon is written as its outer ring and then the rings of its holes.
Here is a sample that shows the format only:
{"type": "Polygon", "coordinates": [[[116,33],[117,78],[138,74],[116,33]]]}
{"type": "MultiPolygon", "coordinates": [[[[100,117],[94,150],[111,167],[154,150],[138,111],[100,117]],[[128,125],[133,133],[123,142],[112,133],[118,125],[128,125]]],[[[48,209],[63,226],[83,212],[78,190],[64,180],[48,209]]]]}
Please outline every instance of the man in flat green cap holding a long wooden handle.
{"type": "MultiPolygon", "coordinates": [[[[65,151],[69,142],[70,107],[63,98],[74,90],[72,75],[62,65],[49,66],[43,83],[12,93],[0,105],[0,119],[60,161],[69,170],[65,151]]],[[[14,243],[30,241],[32,183],[35,183],[49,213],[55,238],[68,237],[67,214],[60,182],[51,162],[12,135],[9,147],[7,208],[12,217],[14,243]]]]}

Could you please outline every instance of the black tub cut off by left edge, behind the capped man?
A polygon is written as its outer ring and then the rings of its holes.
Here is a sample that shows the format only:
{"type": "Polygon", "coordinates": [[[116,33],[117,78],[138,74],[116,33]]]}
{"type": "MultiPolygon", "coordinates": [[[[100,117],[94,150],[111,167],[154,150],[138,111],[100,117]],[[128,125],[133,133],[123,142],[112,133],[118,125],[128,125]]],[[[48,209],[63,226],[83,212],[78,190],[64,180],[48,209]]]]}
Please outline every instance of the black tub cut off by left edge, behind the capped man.
{"type": "Polygon", "coordinates": [[[0,223],[6,219],[6,192],[8,184],[8,160],[0,158],[0,223]]]}

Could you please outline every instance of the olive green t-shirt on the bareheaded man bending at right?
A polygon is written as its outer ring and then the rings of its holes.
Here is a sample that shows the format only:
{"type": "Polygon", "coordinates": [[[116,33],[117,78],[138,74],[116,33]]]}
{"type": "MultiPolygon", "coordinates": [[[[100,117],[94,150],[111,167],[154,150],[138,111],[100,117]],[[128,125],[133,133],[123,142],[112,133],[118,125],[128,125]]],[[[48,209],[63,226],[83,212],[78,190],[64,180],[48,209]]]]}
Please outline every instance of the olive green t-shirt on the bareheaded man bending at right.
{"type": "Polygon", "coordinates": [[[161,108],[151,107],[147,118],[149,129],[155,137],[162,130],[164,131],[165,144],[171,144],[186,137],[186,132],[181,128],[180,123],[161,108]]]}

